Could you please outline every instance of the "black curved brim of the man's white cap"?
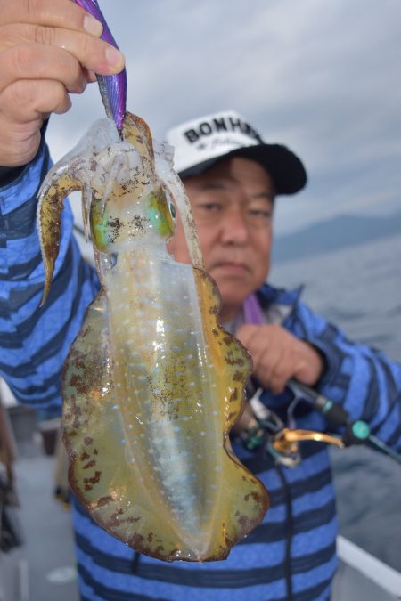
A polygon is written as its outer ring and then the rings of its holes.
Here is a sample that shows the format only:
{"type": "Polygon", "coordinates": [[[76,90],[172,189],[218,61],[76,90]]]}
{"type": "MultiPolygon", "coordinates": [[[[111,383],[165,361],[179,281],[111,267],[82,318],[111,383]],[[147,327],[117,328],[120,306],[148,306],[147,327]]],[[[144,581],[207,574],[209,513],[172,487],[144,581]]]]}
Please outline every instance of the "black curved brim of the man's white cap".
{"type": "Polygon", "coordinates": [[[243,146],[239,149],[227,152],[219,157],[209,158],[198,165],[184,169],[178,175],[181,179],[201,175],[209,167],[216,165],[220,160],[227,157],[243,157],[254,160],[265,167],[271,175],[276,194],[295,194],[305,187],[307,183],[307,172],[301,160],[281,144],[257,144],[256,146],[243,146]]]}

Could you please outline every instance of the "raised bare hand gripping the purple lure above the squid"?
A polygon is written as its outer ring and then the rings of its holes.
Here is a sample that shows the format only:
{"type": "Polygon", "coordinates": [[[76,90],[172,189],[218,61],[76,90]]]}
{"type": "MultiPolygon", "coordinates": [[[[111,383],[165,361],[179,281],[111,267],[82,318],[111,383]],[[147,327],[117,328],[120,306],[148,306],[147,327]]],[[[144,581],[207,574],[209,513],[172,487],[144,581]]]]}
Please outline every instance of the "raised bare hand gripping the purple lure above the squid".
{"type": "Polygon", "coordinates": [[[101,23],[70,0],[0,0],[1,166],[35,157],[45,118],[70,109],[69,94],[85,90],[89,72],[123,68],[101,34],[101,23]]]}

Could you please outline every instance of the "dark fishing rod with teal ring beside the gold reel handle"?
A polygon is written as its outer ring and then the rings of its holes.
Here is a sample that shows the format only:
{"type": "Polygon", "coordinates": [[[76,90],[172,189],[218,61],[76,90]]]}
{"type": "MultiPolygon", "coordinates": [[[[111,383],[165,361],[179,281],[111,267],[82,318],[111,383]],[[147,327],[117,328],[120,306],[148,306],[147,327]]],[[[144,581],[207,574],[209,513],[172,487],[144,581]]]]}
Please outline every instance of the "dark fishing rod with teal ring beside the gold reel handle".
{"type": "MultiPolygon", "coordinates": [[[[394,459],[401,465],[401,455],[389,448],[386,443],[383,443],[377,436],[372,435],[371,427],[362,419],[352,420],[349,413],[338,403],[332,402],[326,396],[316,393],[315,390],[301,384],[297,380],[290,379],[287,382],[287,387],[295,395],[296,399],[304,400],[311,404],[315,410],[321,413],[327,419],[329,424],[334,427],[345,427],[345,433],[339,439],[343,446],[348,447],[351,444],[366,444],[370,443],[376,449],[384,452],[391,459],[394,459]]],[[[291,432],[291,431],[290,431],[291,432]]],[[[300,439],[299,439],[300,440],[300,439]]],[[[314,440],[317,440],[316,438],[314,440]]],[[[290,442],[290,441],[289,441],[290,442]]],[[[325,441],[331,442],[332,441],[325,441]]],[[[339,444],[340,446],[340,444],[339,444]]]]}

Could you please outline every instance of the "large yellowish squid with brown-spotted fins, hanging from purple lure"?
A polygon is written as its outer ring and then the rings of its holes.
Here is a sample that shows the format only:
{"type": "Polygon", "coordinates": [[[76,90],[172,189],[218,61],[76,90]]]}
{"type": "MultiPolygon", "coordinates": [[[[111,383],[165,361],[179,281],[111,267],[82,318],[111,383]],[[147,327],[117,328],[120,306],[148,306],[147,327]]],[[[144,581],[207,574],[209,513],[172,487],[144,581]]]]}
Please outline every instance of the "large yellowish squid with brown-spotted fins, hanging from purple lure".
{"type": "Polygon", "coordinates": [[[51,289],[63,199],[81,191],[101,290],[62,375],[70,485],[94,521],[164,561],[211,561],[263,518],[266,489],[233,453],[250,356],[218,323],[220,298],[173,150],[128,111],[94,123],[39,190],[51,289]],[[168,253],[184,225],[192,264],[168,253]]]}

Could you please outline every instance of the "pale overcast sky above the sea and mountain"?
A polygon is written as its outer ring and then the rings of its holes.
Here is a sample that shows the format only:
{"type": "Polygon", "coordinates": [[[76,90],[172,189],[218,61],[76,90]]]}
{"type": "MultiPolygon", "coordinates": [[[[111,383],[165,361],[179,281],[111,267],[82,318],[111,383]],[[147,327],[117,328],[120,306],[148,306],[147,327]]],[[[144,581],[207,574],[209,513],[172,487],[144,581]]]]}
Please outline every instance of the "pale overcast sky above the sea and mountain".
{"type": "MultiPolygon", "coordinates": [[[[127,57],[127,109],[169,126],[233,109],[302,158],[279,233],[340,213],[401,210],[399,0],[99,0],[127,57]]],[[[103,116],[97,86],[52,118],[61,158],[103,116]]]]}

